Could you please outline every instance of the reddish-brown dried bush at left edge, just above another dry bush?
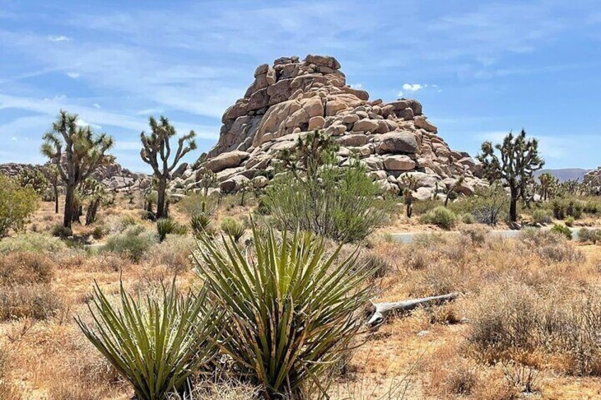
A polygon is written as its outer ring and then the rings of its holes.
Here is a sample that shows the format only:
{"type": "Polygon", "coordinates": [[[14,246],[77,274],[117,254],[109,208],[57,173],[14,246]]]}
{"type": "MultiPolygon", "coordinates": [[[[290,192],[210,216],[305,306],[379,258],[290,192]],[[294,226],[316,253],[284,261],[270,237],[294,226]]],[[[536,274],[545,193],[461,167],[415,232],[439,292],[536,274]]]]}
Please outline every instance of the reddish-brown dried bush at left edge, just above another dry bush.
{"type": "Polygon", "coordinates": [[[55,264],[43,254],[8,253],[0,256],[0,285],[49,283],[55,264]]]}

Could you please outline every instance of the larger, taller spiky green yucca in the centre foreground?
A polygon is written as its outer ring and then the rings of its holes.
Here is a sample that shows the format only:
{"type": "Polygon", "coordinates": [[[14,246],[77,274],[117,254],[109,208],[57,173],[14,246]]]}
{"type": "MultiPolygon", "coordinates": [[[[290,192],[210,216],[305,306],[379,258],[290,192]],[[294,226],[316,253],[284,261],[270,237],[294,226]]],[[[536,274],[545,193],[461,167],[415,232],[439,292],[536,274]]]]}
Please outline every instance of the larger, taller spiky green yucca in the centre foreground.
{"type": "Polygon", "coordinates": [[[224,309],[220,346],[266,399],[324,394],[320,375],[345,353],[360,328],[357,313],[370,273],[355,254],[326,256],[324,240],[297,231],[276,239],[253,227],[256,248],[243,254],[233,238],[199,238],[196,269],[224,309]]]}

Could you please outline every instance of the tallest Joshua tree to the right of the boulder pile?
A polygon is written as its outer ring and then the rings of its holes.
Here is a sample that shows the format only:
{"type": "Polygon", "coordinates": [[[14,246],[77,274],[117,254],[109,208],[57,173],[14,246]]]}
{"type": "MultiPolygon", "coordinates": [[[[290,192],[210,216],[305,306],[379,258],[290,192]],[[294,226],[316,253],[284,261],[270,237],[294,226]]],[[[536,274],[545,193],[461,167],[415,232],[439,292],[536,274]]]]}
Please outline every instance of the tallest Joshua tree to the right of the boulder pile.
{"type": "Polygon", "coordinates": [[[544,160],[539,156],[538,140],[526,139],[526,132],[514,136],[509,132],[503,144],[493,147],[491,142],[482,144],[482,154],[478,156],[488,181],[503,181],[510,190],[509,218],[511,222],[517,221],[517,200],[532,183],[532,174],[544,165],[544,160]],[[500,152],[500,158],[495,154],[495,149],[500,152]]]}

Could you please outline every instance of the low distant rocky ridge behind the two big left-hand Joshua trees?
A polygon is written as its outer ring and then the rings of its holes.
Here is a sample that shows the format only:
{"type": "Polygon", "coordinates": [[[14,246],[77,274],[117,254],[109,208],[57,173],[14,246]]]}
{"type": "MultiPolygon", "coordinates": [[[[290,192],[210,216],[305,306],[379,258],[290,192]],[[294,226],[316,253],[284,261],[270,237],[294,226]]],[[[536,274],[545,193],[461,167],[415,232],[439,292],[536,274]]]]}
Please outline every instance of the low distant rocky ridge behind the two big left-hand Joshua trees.
{"type": "MultiPolygon", "coordinates": [[[[35,168],[42,168],[42,165],[7,163],[0,164],[0,173],[14,177],[25,169],[35,168]]],[[[107,188],[117,191],[139,188],[140,183],[144,186],[144,183],[149,179],[144,173],[133,173],[129,169],[123,168],[117,162],[101,166],[92,174],[92,178],[103,183],[107,188]]]]}

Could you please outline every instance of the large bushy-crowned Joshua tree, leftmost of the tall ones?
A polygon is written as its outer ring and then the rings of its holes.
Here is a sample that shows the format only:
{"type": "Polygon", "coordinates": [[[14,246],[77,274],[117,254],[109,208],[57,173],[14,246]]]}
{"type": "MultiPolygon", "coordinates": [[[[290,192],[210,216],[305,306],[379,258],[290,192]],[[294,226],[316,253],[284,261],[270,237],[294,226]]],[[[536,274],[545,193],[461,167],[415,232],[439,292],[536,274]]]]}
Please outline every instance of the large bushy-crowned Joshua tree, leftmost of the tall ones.
{"type": "Polygon", "coordinates": [[[70,228],[76,211],[76,189],[98,166],[110,161],[111,157],[105,153],[113,147],[113,138],[105,133],[94,135],[91,127],[78,124],[76,114],[60,110],[43,139],[42,154],[56,164],[64,184],[63,225],[70,228]]]}

